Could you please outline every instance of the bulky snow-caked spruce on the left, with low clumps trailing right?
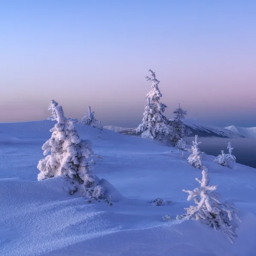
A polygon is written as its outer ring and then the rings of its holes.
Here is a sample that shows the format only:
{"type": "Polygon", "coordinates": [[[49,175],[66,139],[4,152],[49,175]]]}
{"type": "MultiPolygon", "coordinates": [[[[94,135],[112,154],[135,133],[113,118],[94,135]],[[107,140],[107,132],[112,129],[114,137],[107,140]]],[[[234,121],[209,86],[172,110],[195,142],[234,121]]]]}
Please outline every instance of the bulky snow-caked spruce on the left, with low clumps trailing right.
{"type": "Polygon", "coordinates": [[[38,163],[38,180],[61,176],[70,183],[67,188],[70,194],[80,190],[89,200],[104,199],[104,189],[86,160],[93,153],[90,143],[81,141],[74,120],[64,116],[61,106],[56,106],[54,111],[57,123],[50,130],[52,137],[42,146],[44,155],[50,154],[38,163]]]}

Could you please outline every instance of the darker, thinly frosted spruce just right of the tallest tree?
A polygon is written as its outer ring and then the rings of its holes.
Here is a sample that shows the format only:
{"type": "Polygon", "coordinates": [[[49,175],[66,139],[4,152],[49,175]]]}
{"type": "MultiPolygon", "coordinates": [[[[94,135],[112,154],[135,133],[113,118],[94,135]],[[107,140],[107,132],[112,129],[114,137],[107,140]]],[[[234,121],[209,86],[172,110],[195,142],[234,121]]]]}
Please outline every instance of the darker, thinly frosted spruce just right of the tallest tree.
{"type": "MultiPolygon", "coordinates": [[[[183,119],[186,116],[187,111],[184,111],[182,108],[180,108],[180,103],[179,107],[175,109],[174,113],[174,119],[172,120],[172,140],[175,143],[175,146],[180,146],[182,145],[181,143],[178,143],[179,140],[183,139],[191,134],[191,131],[189,129],[186,129],[186,126],[183,122],[183,119]]],[[[185,141],[186,142],[186,141],[185,141]]],[[[184,149],[184,148],[180,148],[184,149]]]]}

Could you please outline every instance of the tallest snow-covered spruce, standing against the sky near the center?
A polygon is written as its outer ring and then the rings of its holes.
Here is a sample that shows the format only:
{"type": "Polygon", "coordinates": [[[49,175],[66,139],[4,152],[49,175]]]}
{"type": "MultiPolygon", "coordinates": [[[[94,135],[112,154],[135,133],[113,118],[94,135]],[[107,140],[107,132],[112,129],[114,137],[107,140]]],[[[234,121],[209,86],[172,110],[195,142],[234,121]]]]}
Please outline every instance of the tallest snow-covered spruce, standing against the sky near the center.
{"type": "Polygon", "coordinates": [[[166,105],[160,102],[162,94],[158,88],[160,81],[156,79],[155,73],[148,70],[152,78],[146,76],[147,81],[152,81],[151,90],[146,96],[148,104],[145,105],[142,123],[138,126],[136,133],[141,134],[141,137],[146,137],[151,140],[162,140],[163,137],[169,136],[170,128],[166,116],[163,115],[166,105]]]}

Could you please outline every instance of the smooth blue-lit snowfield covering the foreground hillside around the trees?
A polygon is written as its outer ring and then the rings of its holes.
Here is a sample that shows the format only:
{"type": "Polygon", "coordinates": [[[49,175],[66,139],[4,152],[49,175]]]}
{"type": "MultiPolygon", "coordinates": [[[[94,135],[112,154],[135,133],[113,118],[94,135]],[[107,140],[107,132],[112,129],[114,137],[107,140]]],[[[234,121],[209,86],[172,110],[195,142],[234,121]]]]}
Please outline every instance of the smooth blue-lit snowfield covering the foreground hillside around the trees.
{"type": "Polygon", "coordinates": [[[181,151],[157,141],[76,125],[102,156],[93,158],[93,172],[113,195],[112,207],[67,194],[58,177],[37,181],[41,146],[54,123],[0,124],[0,256],[255,256],[256,169],[229,169],[205,155],[209,184],[218,184],[244,219],[231,244],[198,221],[175,220],[194,204],[182,189],[198,186],[201,170],[187,163],[189,152],[181,159],[181,151]],[[156,198],[172,203],[148,203],[156,198]],[[167,214],[172,221],[163,221],[167,214]]]}

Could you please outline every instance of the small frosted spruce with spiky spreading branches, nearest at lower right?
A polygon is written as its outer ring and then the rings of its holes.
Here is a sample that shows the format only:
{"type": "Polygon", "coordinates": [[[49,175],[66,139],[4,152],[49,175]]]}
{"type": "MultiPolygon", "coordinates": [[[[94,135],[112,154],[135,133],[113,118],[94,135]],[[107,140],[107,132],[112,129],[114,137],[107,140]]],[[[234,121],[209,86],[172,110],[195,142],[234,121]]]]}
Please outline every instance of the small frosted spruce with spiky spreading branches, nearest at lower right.
{"type": "Polygon", "coordinates": [[[201,221],[204,224],[221,230],[233,243],[236,235],[237,222],[241,222],[239,217],[239,209],[230,202],[221,202],[220,195],[215,192],[217,185],[209,186],[208,170],[204,167],[202,171],[202,179],[196,178],[200,183],[200,187],[193,191],[185,190],[189,193],[188,201],[194,199],[195,206],[185,208],[187,210],[184,215],[177,215],[177,219],[187,218],[201,221]]]}

